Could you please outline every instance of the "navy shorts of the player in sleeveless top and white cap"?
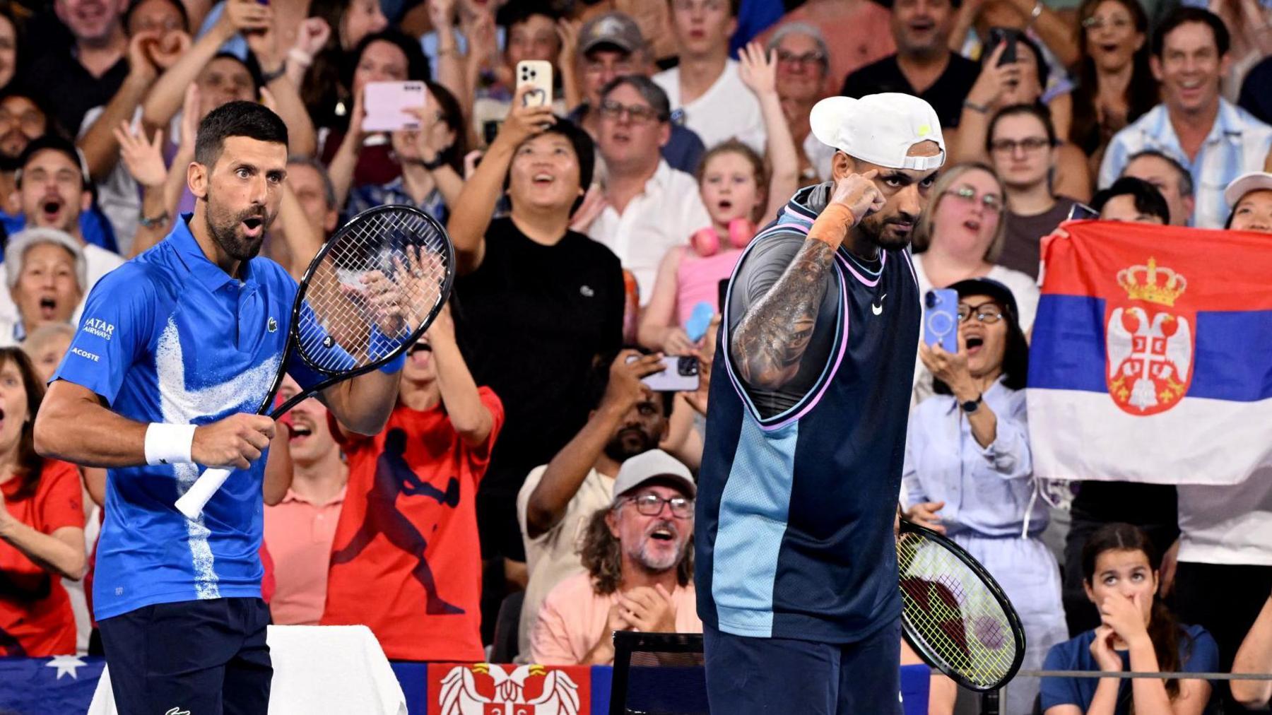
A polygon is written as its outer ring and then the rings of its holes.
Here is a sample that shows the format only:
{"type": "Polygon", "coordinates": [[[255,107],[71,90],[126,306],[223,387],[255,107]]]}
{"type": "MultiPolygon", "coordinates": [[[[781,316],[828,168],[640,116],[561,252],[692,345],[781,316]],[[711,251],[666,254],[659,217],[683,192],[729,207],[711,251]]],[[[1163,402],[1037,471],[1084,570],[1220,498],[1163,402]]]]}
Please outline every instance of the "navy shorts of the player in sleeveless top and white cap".
{"type": "Polygon", "coordinates": [[[899,620],[847,645],[702,635],[712,712],[901,715],[899,620]]]}

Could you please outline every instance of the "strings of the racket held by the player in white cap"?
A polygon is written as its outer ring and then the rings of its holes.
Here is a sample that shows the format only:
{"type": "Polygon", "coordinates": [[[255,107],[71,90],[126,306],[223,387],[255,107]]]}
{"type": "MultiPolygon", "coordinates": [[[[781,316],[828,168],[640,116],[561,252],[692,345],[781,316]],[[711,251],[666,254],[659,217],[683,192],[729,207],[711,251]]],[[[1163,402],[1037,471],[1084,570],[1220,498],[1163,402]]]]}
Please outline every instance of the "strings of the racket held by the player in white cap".
{"type": "Polygon", "coordinates": [[[1010,676],[1016,660],[1011,621],[978,574],[913,532],[898,538],[897,565],[902,618],[929,655],[983,687],[1010,676]]]}

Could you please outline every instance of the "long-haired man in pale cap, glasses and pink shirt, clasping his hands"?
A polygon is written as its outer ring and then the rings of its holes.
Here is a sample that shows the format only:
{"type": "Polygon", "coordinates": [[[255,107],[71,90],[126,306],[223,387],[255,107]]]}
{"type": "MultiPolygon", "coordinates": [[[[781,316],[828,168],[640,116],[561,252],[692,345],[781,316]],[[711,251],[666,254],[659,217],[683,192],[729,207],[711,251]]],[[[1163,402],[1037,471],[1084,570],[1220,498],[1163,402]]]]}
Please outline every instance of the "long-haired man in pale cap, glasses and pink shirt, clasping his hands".
{"type": "Polygon", "coordinates": [[[586,573],[548,593],[530,636],[544,665],[608,665],[613,631],[701,634],[693,592],[689,469],[651,449],[623,462],[614,500],[591,518],[580,556],[586,573]]]}

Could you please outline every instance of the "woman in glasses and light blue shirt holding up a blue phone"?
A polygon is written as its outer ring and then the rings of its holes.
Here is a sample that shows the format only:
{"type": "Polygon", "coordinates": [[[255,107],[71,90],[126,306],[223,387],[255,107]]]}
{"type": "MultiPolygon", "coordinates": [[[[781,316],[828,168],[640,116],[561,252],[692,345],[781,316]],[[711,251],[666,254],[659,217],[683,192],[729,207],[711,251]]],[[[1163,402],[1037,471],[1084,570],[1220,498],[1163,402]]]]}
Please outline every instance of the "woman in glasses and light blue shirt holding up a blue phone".
{"type": "MultiPolygon", "coordinates": [[[[953,538],[1002,585],[1025,627],[1021,667],[1037,669],[1068,628],[1060,566],[1038,538],[1047,503],[1025,421],[1029,347],[1006,285],[976,277],[950,288],[959,296],[959,349],[918,346],[936,396],[909,413],[902,503],[907,519],[953,538]]],[[[1035,678],[1016,678],[1004,712],[1032,711],[1037,693],[1035,678]]]]}

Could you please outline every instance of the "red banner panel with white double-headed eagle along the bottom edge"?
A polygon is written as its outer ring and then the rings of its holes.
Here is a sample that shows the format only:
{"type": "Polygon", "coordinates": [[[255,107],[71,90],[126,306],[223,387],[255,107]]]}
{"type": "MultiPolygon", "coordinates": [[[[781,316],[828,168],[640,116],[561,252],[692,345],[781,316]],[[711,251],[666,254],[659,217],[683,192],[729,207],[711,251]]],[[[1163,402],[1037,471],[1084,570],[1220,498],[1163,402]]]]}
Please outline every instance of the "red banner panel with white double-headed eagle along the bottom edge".
{"type": "Polygon", "coordinates": [[[580,692],[577,684],[590,686],[586,667],[504,668],[494,663],[430,665],[429,692],[436,693],[429,698],[430,715],[579,715],[589,709],[589,692],[586,687],[580,692]]]}

